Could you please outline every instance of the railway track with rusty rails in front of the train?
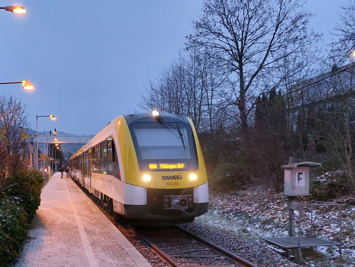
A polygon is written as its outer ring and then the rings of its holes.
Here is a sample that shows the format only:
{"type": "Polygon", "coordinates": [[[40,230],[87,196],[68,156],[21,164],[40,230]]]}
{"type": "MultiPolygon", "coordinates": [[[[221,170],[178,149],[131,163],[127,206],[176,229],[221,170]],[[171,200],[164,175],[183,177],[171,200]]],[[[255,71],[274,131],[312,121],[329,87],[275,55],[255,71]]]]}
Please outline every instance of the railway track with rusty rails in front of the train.
{"type": "Polygon", "coordinates": [[[169,266],[250,266],[257,267],[176,225],[170,227],[132,228],[130,230],[169,266]]]}

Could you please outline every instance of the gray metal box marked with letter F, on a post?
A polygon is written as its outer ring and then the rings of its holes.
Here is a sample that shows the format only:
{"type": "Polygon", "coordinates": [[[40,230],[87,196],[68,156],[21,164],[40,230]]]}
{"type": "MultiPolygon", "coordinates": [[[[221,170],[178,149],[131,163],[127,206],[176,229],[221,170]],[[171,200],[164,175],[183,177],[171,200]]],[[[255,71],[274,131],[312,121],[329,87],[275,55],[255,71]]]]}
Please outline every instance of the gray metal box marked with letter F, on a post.
{"type": "Polygon", "coordinates": [[[320,163],[300,162],[282,165],[284,168],[284,194],[285,196],[309,196],[310,194],[310,167],[320,167],[320,163]]]}

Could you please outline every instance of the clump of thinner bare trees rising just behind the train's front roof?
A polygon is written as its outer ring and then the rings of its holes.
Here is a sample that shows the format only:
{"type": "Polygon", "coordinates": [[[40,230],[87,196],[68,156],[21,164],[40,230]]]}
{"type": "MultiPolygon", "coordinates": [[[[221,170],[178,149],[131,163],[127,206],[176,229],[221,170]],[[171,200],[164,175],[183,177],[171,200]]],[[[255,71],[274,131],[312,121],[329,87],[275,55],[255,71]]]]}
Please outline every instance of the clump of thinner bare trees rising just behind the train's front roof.
{"type": "Polygon", "coordinates": [[[189,116],[195,127],[210,126],[220,118],[220,95],[225,73],[205,51],[180,51],[149,85],[138,103],[140,110],[189,116]],[[218,115],[217,115],[218,114],[218,115]]]}

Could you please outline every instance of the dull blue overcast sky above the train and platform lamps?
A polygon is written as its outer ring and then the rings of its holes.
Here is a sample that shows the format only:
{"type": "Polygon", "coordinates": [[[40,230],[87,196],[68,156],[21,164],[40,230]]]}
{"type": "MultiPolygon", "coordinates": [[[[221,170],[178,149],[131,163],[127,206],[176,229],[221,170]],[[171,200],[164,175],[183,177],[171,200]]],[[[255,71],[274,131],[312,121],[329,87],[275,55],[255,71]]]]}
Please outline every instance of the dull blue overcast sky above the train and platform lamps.
{"type": "MultiPolygon", "coordinates": [[[[308,0],[311,27],[329,32],[345,0],[308,0]]],[[[27,103],[32,129],[96,134],[113,118],[136,108],[148,78],[184,48],[202,0],[25,1],[27,13],[0,10],[0,82],[29,80],[36,87],[0,85],[27,103]]]]}

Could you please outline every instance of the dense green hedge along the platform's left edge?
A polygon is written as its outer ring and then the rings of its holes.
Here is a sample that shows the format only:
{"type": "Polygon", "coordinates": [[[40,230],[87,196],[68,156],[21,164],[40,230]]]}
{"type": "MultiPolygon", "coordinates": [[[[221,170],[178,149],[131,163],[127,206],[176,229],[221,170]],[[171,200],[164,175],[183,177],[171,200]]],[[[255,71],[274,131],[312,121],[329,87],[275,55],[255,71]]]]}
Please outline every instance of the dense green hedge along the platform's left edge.
{"type": "Polygon", "coordinates": [[[43,175],[37,170],[25,170],[6,179],[5,187],[10,187],[0,203],[1,267],[19,255],[27,228],[40,204],[43,182],[43,175]]]}

